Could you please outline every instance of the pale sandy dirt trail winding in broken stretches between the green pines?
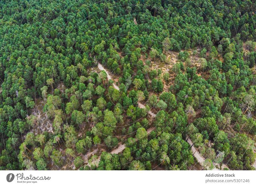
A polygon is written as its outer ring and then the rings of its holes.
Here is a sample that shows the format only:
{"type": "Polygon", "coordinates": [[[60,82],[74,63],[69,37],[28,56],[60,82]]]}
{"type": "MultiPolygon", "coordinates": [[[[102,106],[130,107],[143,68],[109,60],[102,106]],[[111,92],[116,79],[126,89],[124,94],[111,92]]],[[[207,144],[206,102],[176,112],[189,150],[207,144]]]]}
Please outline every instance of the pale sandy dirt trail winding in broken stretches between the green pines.
{"type": "MultiPolygon", "coordinates": [[[[108,73],[108,71],[107,71],[100,63],[98,63],[98,68],[99,68],[100,70],[104,70],[104,71],[106,72],[107,77],[108,77],[109,80],[112,79],[111,75],[108,73]]],[[[119,87],[116,86],[115,83],[113,83],[113,87],[114,87],[115,89],[119,90],[119,87]]],[[[141,104],[141,103],[138,104],[138,107],[139,107],[139,108],[146,108],[145,105],[143,105],[143,104],[141,104]]],[[[149,111],[148,114],[151,115],[152,117],[156,117],[156,114],[154,114],[154,113],[151,112],[151,111],[149,111]]],[[[153,127],[153,128],[149,128],[149,129],[147,130],[147,133],[149,134],[153,129],[154,129],[154,127],[153,127]]],[[[193,152],[193,156],[196,158],[196,160],[198,161],[198,163],[199,163],[201,166],[203,166],[203,165],[204,165],[205,158],[196,150],[196,148],[194,147],[194,144],[193,144],[192,140],[191,140],[189,137],[188,137],[188,143],[189,143],[190,145],[192,145],[191,150],[192,150],[192,152],[193,152]]],[[[116,149],[112,150],[110,153],[111,153],[111,154],[118,154],[119,152],[122,152],[124,149],[125,149],[125,145],[120,143],[120,145],[119,145],[116,149]]],[[[219,166],[219,164],[213,163],[213,166],[214,166],[214,168],[213,168],[212,170],[220,170],[220,169],[216,168],[216,166],[219,166]]],[[[225,165],[225,164],[223,164],[222,167],[228,168],[228,166],[225,165]]]]}

